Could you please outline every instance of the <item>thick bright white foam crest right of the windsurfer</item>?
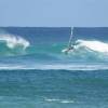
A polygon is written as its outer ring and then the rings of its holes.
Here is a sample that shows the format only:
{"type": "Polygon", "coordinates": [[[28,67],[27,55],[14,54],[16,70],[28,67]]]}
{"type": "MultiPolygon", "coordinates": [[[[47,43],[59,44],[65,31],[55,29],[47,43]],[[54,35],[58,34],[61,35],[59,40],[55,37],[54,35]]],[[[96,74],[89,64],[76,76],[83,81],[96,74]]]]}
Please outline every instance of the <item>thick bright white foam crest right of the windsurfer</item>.
{"type": "Polygon", "coordinates": [[[105,42],[78,40],[77,43],[79,43],[78,48],[85,46],[96,52],[108,53],[108,43],[105,42]]]}

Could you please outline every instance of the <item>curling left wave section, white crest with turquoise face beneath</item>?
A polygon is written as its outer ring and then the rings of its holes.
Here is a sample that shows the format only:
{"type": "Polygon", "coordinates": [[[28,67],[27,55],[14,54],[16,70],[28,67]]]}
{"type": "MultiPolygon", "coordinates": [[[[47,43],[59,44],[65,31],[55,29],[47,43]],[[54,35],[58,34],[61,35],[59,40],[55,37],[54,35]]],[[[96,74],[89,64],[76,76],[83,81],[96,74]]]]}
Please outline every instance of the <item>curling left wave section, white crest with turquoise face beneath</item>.
{"type": "Polygon", "coordinates": [[[0,55],[23,54],[29,45],[29,41],[19,36],[0,35],[0,55]]]}

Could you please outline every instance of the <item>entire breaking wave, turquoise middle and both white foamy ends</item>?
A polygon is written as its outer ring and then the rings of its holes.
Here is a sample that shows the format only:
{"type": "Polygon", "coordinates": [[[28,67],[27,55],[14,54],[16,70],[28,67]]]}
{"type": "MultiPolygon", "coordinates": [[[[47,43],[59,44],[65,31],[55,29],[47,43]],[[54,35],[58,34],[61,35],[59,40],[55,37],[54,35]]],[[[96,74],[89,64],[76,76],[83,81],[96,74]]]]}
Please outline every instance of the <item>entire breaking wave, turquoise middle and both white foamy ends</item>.
{"type": "Polygon", "coordinates": [[[19,36],[0,35],[0,56],[22,56],[40,60],[107,62],[108,43],[97,40],[76,40],[75,50],[62,53],[66,43],[30,44],[19,36]]]}

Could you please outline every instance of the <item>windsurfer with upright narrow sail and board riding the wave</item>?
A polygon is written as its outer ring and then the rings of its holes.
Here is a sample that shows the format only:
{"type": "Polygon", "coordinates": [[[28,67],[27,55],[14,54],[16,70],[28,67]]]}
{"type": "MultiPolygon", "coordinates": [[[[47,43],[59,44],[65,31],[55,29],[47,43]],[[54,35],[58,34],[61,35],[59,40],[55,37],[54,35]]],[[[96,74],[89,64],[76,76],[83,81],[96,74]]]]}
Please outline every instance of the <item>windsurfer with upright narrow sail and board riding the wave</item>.
{"type": "Polygon", "coordinates": [[[69,39],[69,43],[68,43],[67,49],[65,49],[65,50],[62,51],[62,52],[64,52],[64,53],[66,53],[66,54],[67,54],[69,51],[72,51],[72,50],[75,49],[73,44],[71,43],[71,42],[72,42],[72,37],[73,37],[72,30],[73,30],[73,28],[71,28],[70,39],[69,39]]]}

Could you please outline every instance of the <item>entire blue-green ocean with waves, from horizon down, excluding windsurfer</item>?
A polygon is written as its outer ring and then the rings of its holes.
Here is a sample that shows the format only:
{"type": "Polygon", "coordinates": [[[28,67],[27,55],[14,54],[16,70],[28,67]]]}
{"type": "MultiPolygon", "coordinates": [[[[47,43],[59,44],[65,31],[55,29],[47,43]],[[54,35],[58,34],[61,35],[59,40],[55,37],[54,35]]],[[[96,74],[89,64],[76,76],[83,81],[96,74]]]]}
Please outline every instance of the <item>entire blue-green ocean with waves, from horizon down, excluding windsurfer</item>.
{"type": "Polygon", "coordinates": [[[108,108],[108,27],[0,27],[0,108],[108,108]]]}

